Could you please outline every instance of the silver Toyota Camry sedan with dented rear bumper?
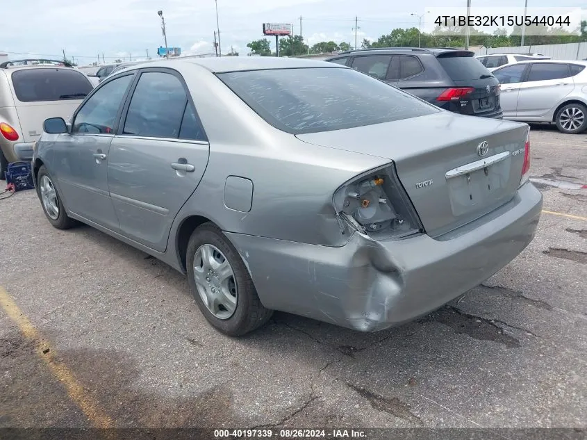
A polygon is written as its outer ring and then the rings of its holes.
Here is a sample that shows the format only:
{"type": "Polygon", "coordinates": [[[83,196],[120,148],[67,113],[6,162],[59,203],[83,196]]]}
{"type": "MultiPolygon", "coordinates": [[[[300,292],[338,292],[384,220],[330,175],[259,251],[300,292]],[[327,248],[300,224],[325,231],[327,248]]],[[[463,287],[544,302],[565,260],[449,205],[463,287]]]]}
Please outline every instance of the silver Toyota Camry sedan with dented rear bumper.
{"type": "Polygon", "coordinates": [[[83,222],[188,276],[211,325],[272,311],[361,331],[422,316],[534,238],[527,124],[458,115],[342,65],[200,58],[129,67],[33,170],[54,227],[83,222]]]}

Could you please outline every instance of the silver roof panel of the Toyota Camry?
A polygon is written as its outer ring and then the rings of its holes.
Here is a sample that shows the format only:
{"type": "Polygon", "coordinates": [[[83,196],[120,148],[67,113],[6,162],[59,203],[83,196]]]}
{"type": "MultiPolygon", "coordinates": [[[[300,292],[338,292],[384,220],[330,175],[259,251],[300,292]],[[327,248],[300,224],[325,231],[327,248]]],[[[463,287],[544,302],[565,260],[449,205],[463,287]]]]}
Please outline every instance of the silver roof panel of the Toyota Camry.
{"type": "Polygon", "coordinates": [[[302,58],[284,58],[276,56],[213,56],[206,58],[189,58],[185,60],[176,58],[172,60],[147,61],[138,65],[130,66],[124,69],[124,72],[129,72],[129,70],[140,69],[143,67],[181,68],[181,66],[189,65],[199,65],[213,73],[239,72],[246,70],[294,69],[301,67],[347,68],[342,65],[326,63],[326,61],[304,60],[302,58]]]}

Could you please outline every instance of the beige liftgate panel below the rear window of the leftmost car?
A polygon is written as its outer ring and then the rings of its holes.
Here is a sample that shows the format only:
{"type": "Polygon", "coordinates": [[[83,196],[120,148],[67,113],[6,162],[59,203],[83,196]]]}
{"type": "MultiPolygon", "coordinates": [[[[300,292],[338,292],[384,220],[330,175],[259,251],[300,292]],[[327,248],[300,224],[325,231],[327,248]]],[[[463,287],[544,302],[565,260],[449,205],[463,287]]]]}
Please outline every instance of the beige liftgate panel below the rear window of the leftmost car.
{"type": "Polygon", "coordinates": [[[43,122],[49,117],[63,117],[65,121],[73,115],[82,99],[63,101],[27,102],[17,105],[22,139],[33,142],[43,133],[43,122]]]}

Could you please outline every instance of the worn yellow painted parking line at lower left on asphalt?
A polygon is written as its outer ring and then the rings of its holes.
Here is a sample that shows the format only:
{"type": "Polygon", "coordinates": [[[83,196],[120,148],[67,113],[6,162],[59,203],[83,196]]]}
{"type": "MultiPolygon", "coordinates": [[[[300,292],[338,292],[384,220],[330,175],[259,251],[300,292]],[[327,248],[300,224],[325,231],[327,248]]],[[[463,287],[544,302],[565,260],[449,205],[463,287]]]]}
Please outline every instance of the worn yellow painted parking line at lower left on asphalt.
{"type": "Polygon", "coordinates": [[[65,386],[67,395],[83,411],[88,420],[94,427],[108,428],[113,427],[113,420],[99,407],[97,402],[85,394],[83,386],[76,380],[74,373],[63,362],[58,361],[56,352],[47,339],[43,339],[30,320],[19,309],[13,298],[8,295],[6,290],[0,286],[0,305],[8,314],[20,331],[31,341],[36,348],[37,355],[47,363],[51,373],[56,379],[65,386]]]}

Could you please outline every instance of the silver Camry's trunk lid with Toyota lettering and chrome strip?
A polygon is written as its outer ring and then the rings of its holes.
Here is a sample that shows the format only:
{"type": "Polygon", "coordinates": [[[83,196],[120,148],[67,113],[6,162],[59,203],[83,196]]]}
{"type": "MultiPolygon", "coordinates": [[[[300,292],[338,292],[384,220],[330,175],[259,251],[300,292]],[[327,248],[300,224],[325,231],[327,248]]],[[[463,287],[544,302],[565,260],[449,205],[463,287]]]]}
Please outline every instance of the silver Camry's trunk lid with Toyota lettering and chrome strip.
{"type": "Polygon", "coordinates": [[[436,237],[497,209],[515,195],[527,130],[527,124],[519,122],[442,111],[297,138],[394,161],[424,229],[436,237]],[[479,147],[482,142],[487,142],[486,148],[479,147]]]}

